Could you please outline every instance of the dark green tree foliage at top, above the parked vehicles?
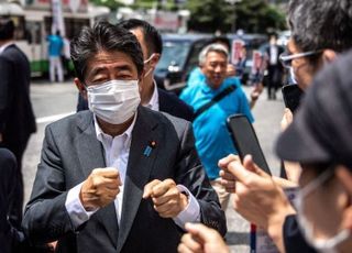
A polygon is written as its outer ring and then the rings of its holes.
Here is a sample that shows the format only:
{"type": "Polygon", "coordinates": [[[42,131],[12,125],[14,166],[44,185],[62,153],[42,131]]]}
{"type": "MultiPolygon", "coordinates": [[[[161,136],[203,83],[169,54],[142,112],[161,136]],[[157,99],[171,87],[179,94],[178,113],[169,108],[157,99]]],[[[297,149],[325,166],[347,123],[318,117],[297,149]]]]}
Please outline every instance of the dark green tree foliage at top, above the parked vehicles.
{"type": "Polygon", "coordinates": [[[231,32],[233,28],[249,33],[265,33],[286,26],[285,14],[264,0],[242,0],[231,6],[226,0],[188,0],[188,28],[199,32],[231,32]]]}

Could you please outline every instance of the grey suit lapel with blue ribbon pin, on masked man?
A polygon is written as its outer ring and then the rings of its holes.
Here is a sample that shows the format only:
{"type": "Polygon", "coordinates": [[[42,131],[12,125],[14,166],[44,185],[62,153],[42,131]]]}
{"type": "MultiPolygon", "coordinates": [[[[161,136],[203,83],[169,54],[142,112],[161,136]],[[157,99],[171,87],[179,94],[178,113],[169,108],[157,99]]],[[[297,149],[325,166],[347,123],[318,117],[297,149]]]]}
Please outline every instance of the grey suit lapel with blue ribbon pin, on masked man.
{"type": "Polygon", "coordinates": [[[121,251],[138,212],[144,186],[148,183],[153,164],[157,156],[157,143],[161,136],[153,114],[143,108],[139,108],[138,119],[132,132],[130,156],[124,182],[123,205],[118,240],[118,252],[121,251]],[[155,142],[156,145],[151,152],[146,147],[155,142]]]}

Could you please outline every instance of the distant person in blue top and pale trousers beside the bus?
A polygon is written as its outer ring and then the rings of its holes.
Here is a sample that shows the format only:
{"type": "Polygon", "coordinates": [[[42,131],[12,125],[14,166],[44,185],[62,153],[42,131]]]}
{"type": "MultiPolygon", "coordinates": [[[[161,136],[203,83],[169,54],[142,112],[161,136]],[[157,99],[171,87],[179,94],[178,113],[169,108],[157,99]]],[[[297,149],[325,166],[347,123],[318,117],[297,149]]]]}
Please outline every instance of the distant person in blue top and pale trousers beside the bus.
{"type": "Polygon", "coordinates": [[[55,81],[55,72],[57,72],[57,79],[62,82],[64,81],[64,72],[61,56],[64,47],[64,38],[61,36],[59,31],[57,31],[56,34],[48,35],[46,40],[48,41],[51,81],[55,81]]]}

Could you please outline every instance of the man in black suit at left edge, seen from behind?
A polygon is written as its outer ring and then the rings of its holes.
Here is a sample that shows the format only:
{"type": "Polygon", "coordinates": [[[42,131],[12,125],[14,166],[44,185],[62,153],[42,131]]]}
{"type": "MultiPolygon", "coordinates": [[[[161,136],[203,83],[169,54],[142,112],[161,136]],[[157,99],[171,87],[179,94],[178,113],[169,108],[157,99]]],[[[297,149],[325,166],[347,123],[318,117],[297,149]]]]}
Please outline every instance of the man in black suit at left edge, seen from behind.
{"type": "Polygon", "coordinates": [[[11,220],[21,224],[23,182],[21,162],[31,133],[35,132],[35,118],[30,101],[31,70],[26,56],[13,43],[14,23],[0,20],[0,145],[16,157],[18,180],[11,220]]]}

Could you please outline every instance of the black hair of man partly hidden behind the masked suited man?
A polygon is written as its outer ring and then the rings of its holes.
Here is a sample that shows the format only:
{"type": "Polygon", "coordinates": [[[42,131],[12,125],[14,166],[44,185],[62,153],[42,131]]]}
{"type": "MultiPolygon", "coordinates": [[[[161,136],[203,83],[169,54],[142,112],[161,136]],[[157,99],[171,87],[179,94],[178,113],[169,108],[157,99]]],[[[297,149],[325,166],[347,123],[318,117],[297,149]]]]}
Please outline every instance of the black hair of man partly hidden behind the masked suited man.
{"type": "Polygon", "coordinates": [[[147,56],[151,56],[153,53],[162,54],[163,53],[163,41],[158,31],[144,20],[130,19],[123,20],[120,23],[117,23],[118,28],[123,28],[127,30],[141,29],[143,32],[144,42],[146,44],[147,56]]]}

